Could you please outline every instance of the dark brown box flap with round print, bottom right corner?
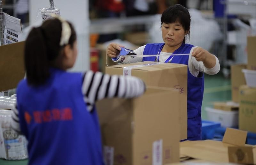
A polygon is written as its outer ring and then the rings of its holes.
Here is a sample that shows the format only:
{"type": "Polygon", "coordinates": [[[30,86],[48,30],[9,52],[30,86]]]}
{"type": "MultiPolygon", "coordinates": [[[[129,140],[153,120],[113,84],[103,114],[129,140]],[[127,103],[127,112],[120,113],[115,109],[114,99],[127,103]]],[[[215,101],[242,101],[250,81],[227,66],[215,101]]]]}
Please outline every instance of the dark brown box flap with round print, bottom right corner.
{"type": "Polygon", "coordinates": [[[232,163],[255,164],[251,146],[229,146],[228,159],[232,163]]]}

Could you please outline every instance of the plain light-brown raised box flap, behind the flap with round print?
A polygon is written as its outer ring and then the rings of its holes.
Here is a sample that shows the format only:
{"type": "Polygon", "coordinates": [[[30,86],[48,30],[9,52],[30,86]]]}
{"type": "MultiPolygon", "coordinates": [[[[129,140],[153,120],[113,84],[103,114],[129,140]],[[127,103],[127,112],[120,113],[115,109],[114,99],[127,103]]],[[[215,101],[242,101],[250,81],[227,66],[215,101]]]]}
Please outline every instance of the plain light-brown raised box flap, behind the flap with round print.
{"type": "Polygon", "coordinates": [[[222,142],[236,145],[236,146],[244,146],[246,137],[247,137],[247,131],[227,128],[222,142]]]}

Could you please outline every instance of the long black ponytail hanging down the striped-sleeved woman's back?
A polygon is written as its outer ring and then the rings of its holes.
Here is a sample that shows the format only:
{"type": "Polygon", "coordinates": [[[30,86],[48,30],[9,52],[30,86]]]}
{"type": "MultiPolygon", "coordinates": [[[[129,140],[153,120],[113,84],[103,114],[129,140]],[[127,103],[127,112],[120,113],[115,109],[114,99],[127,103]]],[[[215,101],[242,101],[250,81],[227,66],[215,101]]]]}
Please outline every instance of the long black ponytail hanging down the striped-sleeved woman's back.
{"type": "Polygon", "coordinates": [[[33,28],[26,40],[25,69],[29,85],[43,84],[50,75],[46,41],[41,27],[33,28]]]}

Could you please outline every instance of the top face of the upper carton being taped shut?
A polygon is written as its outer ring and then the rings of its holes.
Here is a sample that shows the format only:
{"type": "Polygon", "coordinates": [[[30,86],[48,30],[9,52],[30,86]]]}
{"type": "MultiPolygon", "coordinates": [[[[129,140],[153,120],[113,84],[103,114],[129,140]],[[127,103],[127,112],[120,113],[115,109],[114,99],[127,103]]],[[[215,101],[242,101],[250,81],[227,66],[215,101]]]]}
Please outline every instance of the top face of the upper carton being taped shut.
{"type": "Polygon", "coordinates": [[[136,70],[158,71],[158,70],[169,69],[169,68],[178,68],[180,66],[187,66],[187,65],[144,61],[144,62],[132,63],[132,64],[112,65],[112,66],[108,66],[108,67],[111,67],[111,68],[131,67],[132,69],[136,69],[136,70]],[[161,64],[161,65],[159,65],[159,64],[161,64]],[[148,67],[148,66],[151,66],[151,67],[148,67]]]}

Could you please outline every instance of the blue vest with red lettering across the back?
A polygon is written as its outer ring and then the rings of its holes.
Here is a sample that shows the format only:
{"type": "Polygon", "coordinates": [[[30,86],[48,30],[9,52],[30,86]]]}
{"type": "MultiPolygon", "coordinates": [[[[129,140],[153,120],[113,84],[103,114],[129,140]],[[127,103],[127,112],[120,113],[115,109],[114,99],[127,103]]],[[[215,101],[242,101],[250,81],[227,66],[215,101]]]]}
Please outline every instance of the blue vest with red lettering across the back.
{"type": "Polygon", "coordinates": [[[38,87],[17,89],[20,128],[28,139],[28,164],[103,165],[97,112],[88,112],[81,73],[51,69],[38,87]]]}

